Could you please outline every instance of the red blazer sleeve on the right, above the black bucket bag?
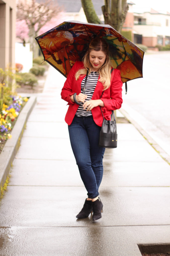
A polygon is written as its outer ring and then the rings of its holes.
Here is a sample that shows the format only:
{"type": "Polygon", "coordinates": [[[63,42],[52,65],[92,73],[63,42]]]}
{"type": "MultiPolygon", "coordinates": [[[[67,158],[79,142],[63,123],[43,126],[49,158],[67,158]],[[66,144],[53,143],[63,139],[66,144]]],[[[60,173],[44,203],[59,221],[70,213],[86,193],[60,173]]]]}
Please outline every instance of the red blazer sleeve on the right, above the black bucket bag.
{"type": "Polygon", "coordinates": [[[109,87],[110,90],[110,99],[101,98],[104,103],[104,107],[102,107],[102,111],[106,110],[116,110],[120,109],[122,105],[122,81],[120,76],[120,70],[114,69],[113,77],[111,78],[111,85],[109,87]]]}

